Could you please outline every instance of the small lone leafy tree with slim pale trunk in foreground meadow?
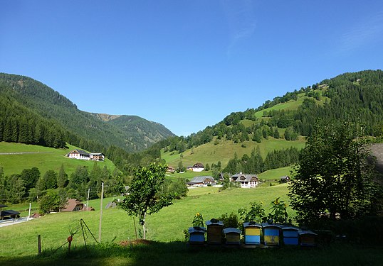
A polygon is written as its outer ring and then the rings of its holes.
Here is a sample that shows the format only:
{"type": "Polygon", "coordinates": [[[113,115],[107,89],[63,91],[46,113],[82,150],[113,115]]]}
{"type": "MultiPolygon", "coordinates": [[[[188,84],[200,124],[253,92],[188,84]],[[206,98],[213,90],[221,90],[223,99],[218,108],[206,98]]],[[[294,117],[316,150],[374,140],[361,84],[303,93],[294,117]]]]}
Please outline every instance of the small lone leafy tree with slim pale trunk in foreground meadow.
{"type": "MultiPolygon", "coordinates": [[[[125,199],[117,202],[117,205],[127,211],[128,215],[138,217],[144,239],[146,238],[146,216],[157,213],[165,206],[172,205],[174,195],[162,193],[166,170],[167,166],[159,163],[136,168],[128,194],[125,199]]],[[[121,192],[125,190],[122,184],[119,187],[121,192]]]]}

